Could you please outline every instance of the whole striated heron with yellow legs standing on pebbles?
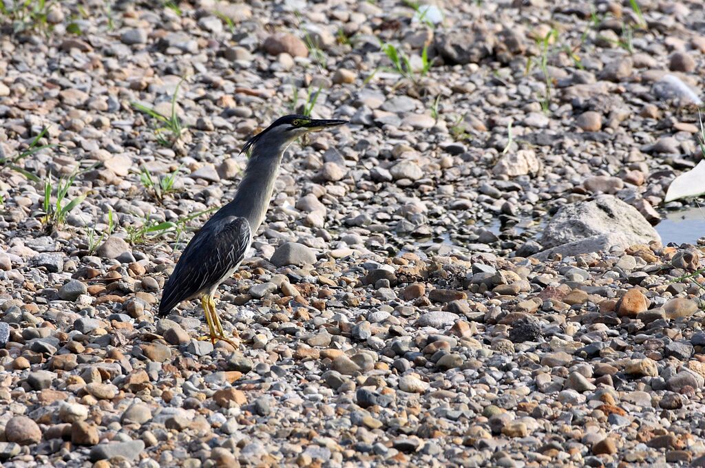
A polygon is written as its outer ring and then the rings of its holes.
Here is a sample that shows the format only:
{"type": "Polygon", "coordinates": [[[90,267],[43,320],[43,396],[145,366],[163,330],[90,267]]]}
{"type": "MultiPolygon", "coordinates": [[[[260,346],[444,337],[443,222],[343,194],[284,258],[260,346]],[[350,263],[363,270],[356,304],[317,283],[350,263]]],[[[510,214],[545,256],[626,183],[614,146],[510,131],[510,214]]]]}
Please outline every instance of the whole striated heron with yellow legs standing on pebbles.
{"type": "Polygon", "coordinates": [[[250,152],[250,159],[235,198],[216,211],[186,246],[164,286],[159,316],[166,316],[179,302],[201,297],[210,331],[206,339],[213,343],[216,339],[223,340],[235,346],[223,333],[213,295],[238,269],[252,236],[264,221],[279,165],[289,144],[308,132],[345,123],[284,116],[245,143],[243,151],[250,152]]]}

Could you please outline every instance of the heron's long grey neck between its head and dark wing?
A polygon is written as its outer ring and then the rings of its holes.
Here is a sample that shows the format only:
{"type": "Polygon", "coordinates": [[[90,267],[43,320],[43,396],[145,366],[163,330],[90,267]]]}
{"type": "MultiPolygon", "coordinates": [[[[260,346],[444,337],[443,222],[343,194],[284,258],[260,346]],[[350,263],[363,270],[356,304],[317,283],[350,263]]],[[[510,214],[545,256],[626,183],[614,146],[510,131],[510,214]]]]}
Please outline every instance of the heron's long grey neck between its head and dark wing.
{"type": "Polygon", "coordinates": [[[281,158],[288,144],[281,147],[275,154],[254,154],[247,161],[243,180],[240,181],[238,192],[230,204],[236,211],[236,216],[247,218],[252,235],[264,221],[269,208],[274,183],[281,164],[281,158]]]}

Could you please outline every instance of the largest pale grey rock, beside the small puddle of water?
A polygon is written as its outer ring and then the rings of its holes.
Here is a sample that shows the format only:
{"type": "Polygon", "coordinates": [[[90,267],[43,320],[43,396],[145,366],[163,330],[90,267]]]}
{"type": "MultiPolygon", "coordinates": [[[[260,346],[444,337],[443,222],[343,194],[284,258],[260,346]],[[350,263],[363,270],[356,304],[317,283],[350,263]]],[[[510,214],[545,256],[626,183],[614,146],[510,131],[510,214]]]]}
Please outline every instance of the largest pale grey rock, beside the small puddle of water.
{"type": "Polygon", "coordinates": [[[635,207],[612,195],[600,195],[560,209],[541,237],[541,245],[547,250],[534,257],[625,249],[652,240],[661,242],[661,236],[635,207]]]}

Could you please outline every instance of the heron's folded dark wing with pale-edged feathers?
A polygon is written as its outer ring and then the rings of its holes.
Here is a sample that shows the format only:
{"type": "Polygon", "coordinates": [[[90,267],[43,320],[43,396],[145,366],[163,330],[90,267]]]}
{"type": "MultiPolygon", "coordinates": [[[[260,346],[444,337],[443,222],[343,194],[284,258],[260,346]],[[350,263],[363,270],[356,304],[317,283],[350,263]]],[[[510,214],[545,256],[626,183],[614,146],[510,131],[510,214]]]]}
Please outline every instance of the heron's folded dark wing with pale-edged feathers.
{"type": "Polygon", "coordinates": [[[164,286],[159,316],[176,304],[219,283],[238,266],[250,247],[250,223],[245,218],[228,217],[207,223],[191,239],[176,268],[164,286]]]}

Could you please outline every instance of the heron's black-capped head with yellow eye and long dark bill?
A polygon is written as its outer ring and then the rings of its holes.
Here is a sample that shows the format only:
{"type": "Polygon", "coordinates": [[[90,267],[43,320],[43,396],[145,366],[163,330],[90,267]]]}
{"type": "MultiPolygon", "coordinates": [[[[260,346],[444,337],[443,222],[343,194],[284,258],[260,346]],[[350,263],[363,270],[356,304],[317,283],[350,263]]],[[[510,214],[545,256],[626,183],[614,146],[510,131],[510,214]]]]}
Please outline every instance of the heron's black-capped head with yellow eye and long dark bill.
{"type": "Polygon", "coordinates": [[[317,119],[298,114],[283,116],[276,119],[274,123],[262,130],[262,132],[257,133],[257,135],[250,138],[250,140],[247,140],[242,151],[249,152],[252,150],[251,156],[259,152],[278,154],[286,148],[290,142],[293,142],[293,140],[301,135],[305,135],[309,132],[317,132],[326,128],[337,127],[338,125],[345,125],[345,123],[348,123],[348,121],[317,119]]]}

